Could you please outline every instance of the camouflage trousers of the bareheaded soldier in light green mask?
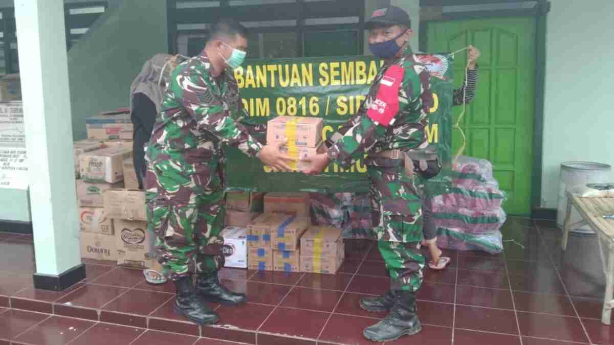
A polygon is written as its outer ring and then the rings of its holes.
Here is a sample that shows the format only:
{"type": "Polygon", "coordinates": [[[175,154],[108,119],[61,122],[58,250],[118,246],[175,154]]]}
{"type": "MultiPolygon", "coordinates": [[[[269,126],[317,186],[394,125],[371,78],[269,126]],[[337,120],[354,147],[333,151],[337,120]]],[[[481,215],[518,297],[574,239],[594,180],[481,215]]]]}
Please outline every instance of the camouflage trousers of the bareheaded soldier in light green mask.
{"type": "Polygon", "coordinates": [[[156,236],[157,258],[164,275],[177,280],[191,274],[214,274],[224,265],[222,254],[224,192],[195,181],[211,176],[186,175],[176,162],[147,166],[147,228],[156,236]]]}

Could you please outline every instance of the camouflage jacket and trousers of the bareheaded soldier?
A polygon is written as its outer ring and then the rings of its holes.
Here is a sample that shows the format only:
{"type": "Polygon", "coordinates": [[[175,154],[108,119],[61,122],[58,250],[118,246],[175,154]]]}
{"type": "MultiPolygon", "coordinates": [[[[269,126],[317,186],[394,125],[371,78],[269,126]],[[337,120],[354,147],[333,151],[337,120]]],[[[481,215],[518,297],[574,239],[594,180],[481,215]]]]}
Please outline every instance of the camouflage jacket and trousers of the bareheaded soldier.
{"type": "Polygon", "coordinates": [[[223,265],[222,145],[254,157],[258,143],[231,72],[214,79],[206,56],[180,64],[169,80],[147,147],[147,219],[165,275],[177,280],[223,265]]]}

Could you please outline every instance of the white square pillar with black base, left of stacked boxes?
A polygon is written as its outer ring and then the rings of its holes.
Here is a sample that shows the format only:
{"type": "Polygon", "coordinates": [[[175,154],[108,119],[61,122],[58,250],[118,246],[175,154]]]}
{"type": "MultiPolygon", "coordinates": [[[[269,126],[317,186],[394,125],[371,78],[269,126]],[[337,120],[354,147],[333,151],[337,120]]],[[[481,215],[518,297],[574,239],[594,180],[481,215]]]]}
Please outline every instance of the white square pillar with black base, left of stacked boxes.
{"type": "Polygon", "coordinates": [[[85,277],[72,156],[62,0],[15,0],[21,93],[39,289],[85,277]]]}

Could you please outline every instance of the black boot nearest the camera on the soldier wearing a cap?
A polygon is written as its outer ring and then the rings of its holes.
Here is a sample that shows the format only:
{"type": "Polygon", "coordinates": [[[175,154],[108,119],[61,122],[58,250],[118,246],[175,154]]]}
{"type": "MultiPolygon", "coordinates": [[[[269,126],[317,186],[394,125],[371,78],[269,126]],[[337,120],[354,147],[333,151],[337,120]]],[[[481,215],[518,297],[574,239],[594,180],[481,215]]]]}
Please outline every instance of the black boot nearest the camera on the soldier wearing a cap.
{"type": "Polygon", "coordinates": [[[416,314],[416,294],[398,292],[390,313],[377,324],[365,328],[362,334],[371,341],[392,341],[403,335],[418,334],[421,330],[416,314]]]}

